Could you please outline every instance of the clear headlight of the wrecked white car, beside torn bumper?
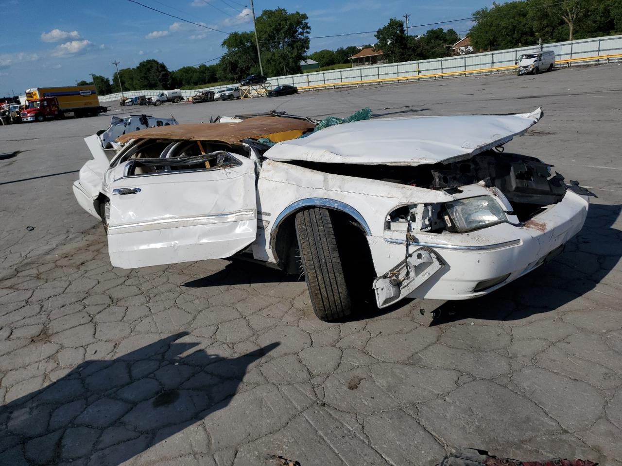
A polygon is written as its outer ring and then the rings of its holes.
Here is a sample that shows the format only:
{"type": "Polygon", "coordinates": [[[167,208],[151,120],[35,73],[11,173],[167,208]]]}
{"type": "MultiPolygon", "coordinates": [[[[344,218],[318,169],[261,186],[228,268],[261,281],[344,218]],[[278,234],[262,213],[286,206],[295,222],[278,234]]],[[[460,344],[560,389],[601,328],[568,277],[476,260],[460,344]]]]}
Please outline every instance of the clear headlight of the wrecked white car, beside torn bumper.
{"type": "Polygon", "coordinates": [[[445,204],[449,218],[445,218],[448,229],[465,233],[490,227],[507,218],[501,206],[491,196],[460,199],[445,204]]]}

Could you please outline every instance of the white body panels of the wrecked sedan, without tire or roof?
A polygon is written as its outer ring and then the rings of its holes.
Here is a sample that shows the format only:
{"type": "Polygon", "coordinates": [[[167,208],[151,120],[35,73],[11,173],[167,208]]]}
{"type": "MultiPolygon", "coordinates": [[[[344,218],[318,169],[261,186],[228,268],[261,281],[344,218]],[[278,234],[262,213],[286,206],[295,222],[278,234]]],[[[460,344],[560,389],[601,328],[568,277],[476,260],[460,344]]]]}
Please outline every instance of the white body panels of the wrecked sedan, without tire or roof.
{"type": "MultiPolygon", "coordinates": [[[[359,170],[469,161],[524,134],[541,116],[537,109],[509,116],[353,122],[284,140],[263,153],[246,145],[245,155],[223,152],[216,165],[184,170],[145,173],[136,167],[147,162],[113,161],[100,192],[76,197],[98,217],[93,201],[110,199],[109,255],[117,267],[244,253],[283,268],[276,247],[279,228],[300,209],[319,206],[345,212],[364,231],[378,277],[373,286],[379,307],[406,297],[476,298],[559,254],[585,222],[587,195],[564,187],[555,202],[519,218],[508,199],[514,194],[506,196],[494,183],[430,189],[358,175],[359,170]],[[468,206],[473,198],[498,219],[456,231],[443,206],[468,206]],[[393,215],[404,208],[410,212],[406,218],[393,215]]],[[[96,185],[98,175],[87,165],[78,186],[83,181],[96,185]]]]}

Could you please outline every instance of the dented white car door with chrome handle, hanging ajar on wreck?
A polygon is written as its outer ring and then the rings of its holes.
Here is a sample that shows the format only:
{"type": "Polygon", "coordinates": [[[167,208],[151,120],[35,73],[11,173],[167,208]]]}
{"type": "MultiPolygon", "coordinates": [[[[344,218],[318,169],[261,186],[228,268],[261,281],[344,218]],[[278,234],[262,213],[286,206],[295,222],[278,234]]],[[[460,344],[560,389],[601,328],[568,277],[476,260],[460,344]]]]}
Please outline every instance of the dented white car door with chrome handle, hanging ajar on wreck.
{"type": "Polygon", "coordinates": [[[216,154],[114,168],[108,254],[115,267],[225,258],[255,240],[254,163],[216,154]]]}

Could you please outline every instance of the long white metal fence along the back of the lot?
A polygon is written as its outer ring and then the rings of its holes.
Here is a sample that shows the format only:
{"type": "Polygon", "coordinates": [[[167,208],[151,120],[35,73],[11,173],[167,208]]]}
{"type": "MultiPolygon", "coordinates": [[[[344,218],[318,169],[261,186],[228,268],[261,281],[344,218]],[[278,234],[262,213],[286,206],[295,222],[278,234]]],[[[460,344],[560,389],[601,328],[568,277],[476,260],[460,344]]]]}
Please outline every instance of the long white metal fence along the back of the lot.
{"type": "MultiPolygon", "coordinates": [[[[477,73],[491,73],[516,69],[514,62],[523,53],[536,53],[540,48],[537,45],[530,47],[510,48],[494,52],[470,53],[455,57],[434,58],[431,60],[414,60],[412,62],[386,63],[383,65],[355,66],[332,71],[315,71],[299,75],[275,76],[268,79],[272,86],[293,85],[301,90],[322,89],[330,87],[364,85],[384,82],[399,82],[408,80],[434,79],[477,73]]],[[[617,59],[622,53],[622,35],[595,37],[567,42],[547,43],[542,50],[553,50],[557,63],[572,66],[577,63],[596,62],[600,60],[617,59]],[[609,57],[609,58],[607,58],[609,57]]],[[[212,86],[203,89],[182,90],[183,98],[192,97],[203,91],[239,86],[231,84],[212,86]]],[[[124,93],[128,97],[156,96],[163,92],[129,91],[124,93]]],[[[121,93],[100,96],[101,102],[114,101],[121,98],[121,93]]]]}

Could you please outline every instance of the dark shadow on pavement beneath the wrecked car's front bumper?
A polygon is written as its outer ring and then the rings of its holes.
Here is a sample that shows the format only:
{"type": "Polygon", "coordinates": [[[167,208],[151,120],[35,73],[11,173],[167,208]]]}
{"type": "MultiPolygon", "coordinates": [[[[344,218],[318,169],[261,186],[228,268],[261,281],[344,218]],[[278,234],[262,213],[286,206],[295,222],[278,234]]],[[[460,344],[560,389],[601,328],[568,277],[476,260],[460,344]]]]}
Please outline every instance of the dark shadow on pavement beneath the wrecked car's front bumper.
{"type": "Polygon", "coordinates": [[[591,204],[585,226],[555,260],[490,295],[441,304],[430,326],[473,318],[524,319],[559,309],[585,295],[620,262],[622,231],[613,225],[621,211],[620,204],[591,204]]]}

